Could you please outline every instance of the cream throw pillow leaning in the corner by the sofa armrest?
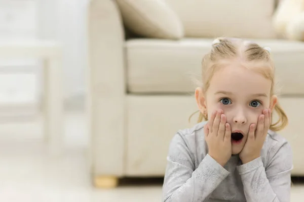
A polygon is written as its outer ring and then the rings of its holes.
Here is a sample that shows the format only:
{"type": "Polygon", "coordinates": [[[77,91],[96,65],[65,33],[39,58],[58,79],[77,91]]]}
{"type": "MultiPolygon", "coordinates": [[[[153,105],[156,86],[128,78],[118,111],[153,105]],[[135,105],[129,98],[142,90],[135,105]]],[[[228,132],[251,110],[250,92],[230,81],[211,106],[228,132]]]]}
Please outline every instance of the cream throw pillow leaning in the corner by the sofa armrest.
{"type": "Polygon", "coordinates": [[[145,37],[180,39],[183,26],[177,14],[163,0],[116,0],[126,27],[145,37]]]}

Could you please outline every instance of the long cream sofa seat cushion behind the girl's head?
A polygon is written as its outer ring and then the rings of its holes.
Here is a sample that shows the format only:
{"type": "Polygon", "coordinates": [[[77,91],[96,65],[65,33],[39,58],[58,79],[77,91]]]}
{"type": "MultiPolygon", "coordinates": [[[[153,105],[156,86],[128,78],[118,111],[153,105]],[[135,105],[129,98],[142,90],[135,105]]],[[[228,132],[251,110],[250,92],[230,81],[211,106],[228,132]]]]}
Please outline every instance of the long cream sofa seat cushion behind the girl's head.
{"type": "MultiPolygon", "coordinates": [[[[126,42],[130,93],[193,93],[201,79],[201,61],[213,39],[179,41],[132,39],[126,42]]],[[[282,94],[304,94],[304,43],[255,40],[272,49],[282,94]]]]}

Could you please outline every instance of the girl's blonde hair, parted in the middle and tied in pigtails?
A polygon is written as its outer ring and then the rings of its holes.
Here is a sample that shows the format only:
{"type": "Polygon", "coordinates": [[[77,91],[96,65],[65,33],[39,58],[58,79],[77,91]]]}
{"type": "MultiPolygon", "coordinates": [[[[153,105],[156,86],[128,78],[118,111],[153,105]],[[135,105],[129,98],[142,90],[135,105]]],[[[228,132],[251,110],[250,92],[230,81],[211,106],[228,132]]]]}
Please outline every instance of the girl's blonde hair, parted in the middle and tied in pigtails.
{"type": "MultiPolygon", "coordinates": [[[[270,49],[259,46],[250,41],[245,41],[238,38],[220,37],[213,41],[211,51],[206,54],[202,61],[202,90],[205,93],[210,85],[210,80],[214,72],[225,63],[227,60],[241,59],[252,65],[258,72],[263,74],[266,78],[271,80],[271,96],[275,94],[275,67],[271,58],[270,49]]],[[[271,123],[270,130],[279,131],[285,128],[288,124],[288,118],[282,109],[281,105],[277,103],[274,111],[278,114],[278,120],[271,123]]],[[[194,113],[195,114],[195,113],[194,113]]],[[[193,115],[194,115],[193,114],[193,115]]],[[[193,116],[191,115],[191,117],[193,116]]],[[[189,118],[189,120],[191,119],[189,118]]],[[[273,112],[272,112],[273,117],[273,112]]],[[[200,112],[198,122],[207,121],[208,116],[200,112]]],[[[273,120],[273,119],[272,119],[273,120]]]]}

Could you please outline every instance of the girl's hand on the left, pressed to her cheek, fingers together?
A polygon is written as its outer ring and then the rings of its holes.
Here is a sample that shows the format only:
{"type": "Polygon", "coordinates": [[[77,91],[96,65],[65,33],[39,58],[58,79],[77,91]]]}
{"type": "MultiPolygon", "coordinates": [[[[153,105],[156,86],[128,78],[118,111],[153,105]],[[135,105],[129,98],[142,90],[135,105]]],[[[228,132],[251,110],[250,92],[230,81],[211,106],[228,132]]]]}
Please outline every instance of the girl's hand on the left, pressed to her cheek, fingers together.
{"type": "Polygon", "coordinates": [[[205,139],[208,145],[208,154],[224,166],[231,158],[231,127],[222,110],[212,113],[211,119],[204,127],[205,139]]]}

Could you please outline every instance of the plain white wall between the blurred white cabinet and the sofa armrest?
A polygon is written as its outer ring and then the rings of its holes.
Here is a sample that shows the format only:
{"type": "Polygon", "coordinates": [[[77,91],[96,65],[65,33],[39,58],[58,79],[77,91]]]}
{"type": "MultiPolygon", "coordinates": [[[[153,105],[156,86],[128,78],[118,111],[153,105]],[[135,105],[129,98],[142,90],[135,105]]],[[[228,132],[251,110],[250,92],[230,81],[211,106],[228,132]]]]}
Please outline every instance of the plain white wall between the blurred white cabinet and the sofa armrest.
{"type": "Polygon", "coordinates": [[[87,64],[86,16],[88,0],[36,0],[38,35],[63,44],[65,98],[84,95],[87,64]]]}

